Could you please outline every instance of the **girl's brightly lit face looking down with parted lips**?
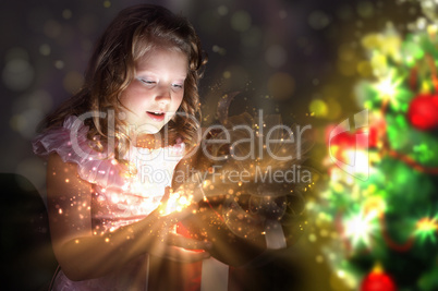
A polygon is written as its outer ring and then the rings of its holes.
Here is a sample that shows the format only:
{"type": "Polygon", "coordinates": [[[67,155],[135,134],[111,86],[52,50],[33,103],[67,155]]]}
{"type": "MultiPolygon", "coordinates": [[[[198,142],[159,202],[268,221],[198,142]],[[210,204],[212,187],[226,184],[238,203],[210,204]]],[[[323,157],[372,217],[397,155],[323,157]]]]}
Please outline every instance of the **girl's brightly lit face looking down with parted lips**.
{"type": "Polygon", "coordinates": [[[175,114],[184,96],[187,57],[178,50],[155,48],[135,66],[135,77],[121,94],[130,131],[153,134],[175,114]]]}

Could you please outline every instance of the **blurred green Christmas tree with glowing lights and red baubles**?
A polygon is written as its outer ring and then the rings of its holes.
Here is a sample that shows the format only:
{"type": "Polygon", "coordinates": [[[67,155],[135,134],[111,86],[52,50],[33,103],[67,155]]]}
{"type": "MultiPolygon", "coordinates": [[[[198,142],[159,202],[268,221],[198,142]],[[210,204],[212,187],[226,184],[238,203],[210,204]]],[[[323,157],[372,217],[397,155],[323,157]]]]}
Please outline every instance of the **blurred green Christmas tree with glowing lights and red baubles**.
{"type": "Polygon", "coordinates": [[[423,2],[429,20],[409,34],[362,38],[365,110],[326,129],[327,183],[308,208],[348,290],[438,290],[438,22],[423,2]]]}

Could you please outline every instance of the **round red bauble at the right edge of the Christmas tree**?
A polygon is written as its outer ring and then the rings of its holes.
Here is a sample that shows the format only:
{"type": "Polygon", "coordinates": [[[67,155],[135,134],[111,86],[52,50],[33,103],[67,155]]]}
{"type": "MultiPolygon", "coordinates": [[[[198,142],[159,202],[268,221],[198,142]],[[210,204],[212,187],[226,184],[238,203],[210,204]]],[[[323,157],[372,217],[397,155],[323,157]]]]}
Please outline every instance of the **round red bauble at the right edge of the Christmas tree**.
{"type": "Polygon", "coordinates": [[[407,119],[422,131],[438,129],[438,95],[416,96],[409,106],[407,119]]]}

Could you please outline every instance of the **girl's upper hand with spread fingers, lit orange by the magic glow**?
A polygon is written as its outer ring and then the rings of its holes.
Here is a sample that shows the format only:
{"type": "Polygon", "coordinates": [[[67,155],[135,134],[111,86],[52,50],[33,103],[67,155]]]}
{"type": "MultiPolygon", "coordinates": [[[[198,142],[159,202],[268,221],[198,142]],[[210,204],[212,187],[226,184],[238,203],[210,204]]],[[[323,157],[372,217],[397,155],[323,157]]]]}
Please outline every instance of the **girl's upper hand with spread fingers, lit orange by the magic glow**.
{"type": "Polygon", "coordinates": [[[207,241],[198,241],[190,238],[185,238],[175,232],[175,225],[190,216],[193,216],[197,206],[195,204],[182,209],[181,211],[174,211],[169,215],[160,215],[160,209],[166,208],[166,204],[170,196],[170,189],[166,189],[165,196],[161,199],[161,205],[155,209],[148,216],[149,226],[145,229],[148,232],[148,237],[156,237],[151,240],[150,245],[147,247],[147,253],[163,257],[174,262],[197,262],[204,258],[210,257],[210,254],[206,251],[193,251],[193,250],[209,250],[211,243],[207,241]]]}

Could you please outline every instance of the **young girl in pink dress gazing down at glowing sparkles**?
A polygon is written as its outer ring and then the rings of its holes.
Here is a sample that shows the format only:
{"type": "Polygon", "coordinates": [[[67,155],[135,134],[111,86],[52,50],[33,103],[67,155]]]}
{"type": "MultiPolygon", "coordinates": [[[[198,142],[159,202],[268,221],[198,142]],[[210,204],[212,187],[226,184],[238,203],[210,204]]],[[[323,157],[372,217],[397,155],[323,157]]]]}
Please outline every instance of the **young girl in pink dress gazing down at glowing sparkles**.
{"type": "Polygon", "coordinates": [[[174,232],[194,207],[169,214],[165,205],[169,178],[197,142],[205,62],[185,19],[156,5],[127,8],[98,41],[83,88],[45,120],[33,146],[48,158],[60,265],[53,290],[184,290],[192,283],[175,266],[208,257],[190,250],[210,243],[174,232]],[[181,264],[166,265],[172,278],[157,278],[150,276],[154,257],[181,264]]]}

